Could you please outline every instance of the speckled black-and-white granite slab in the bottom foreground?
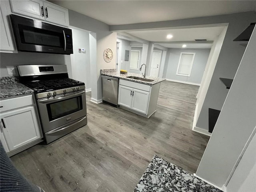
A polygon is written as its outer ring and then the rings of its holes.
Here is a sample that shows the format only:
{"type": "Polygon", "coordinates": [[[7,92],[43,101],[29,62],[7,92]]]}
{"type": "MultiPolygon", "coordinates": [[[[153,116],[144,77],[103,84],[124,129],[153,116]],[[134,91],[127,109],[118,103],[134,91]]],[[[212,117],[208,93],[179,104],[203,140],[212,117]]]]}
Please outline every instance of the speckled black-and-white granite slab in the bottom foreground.
{"type": "Polygon", "coordinates": [[[222,190],[155,155],[134,192],[222,192],[222,190]]]}

